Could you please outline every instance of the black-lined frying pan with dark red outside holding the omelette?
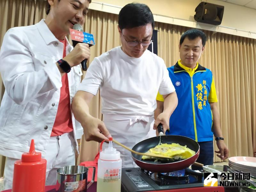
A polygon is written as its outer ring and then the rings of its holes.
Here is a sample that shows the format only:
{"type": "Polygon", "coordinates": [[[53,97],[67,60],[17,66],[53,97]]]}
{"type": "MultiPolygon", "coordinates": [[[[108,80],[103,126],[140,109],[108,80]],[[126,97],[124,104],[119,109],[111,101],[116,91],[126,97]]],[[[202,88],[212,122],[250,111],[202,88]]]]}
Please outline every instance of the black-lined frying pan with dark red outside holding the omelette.
{"type": "MultiPolygon", "coordinates": [[[[163,132],[162,124],[158,125],[157,130],[159,133],[163,132]]],[[[161,139],[161,143],[167,143],[167,144],[178,143],[182,146],[187,145],[187,147],[195,151],[196,154],[192,157],[189,157],[183,160],[174,160],[174,161],[158,160],[155,162],[154,160],[149,160],[149,159],[142,160],[141,155],[132,153],[133,161],[140,168],[145,169],[147,171],[151,171],[151,172],[172,172],[172,171],[185,169],[189,167],[191,164],[196,162],[196,159],[199,156],[199,144],[191,138],[180,136],[180,135],[162,135],[162,136],[151,137],[137,143],[132,148],[132,150],[141,152],[141,153],[146,153],[150,148],[156,147],[156,145],[159,144],[160,139],[161,139]]]]}

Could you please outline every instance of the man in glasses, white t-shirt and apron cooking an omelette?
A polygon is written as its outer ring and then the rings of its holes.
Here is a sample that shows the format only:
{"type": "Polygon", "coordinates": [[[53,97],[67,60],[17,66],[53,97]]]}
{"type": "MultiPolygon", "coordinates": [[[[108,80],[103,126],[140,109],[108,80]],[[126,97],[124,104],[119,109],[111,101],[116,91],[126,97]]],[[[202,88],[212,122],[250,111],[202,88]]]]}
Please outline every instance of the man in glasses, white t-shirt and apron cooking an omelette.
{"type": "MultiPolygon", "coordinates": [[[[141,140],[156,136],[154,110],[158,91],[164,96],[164,111],[156,117],[157,122],[163,124],[164,132],[169,129],[169,122],[164,119],[170,118],[178,99],[164,60],[147,50],[153,26],[153,14],[145,4],[127,4],[119,12],[122,46],[94,58],[72,101],[72,111],[82,124],[87,141],[107,140],[111,134],[132,148],[141,140]],[[89,114],[89,102],[99,88],[104,123],[89,114]]],[[[121,153],[123,167],[134,167],[131,152],[114,147],[121,153]]]]}

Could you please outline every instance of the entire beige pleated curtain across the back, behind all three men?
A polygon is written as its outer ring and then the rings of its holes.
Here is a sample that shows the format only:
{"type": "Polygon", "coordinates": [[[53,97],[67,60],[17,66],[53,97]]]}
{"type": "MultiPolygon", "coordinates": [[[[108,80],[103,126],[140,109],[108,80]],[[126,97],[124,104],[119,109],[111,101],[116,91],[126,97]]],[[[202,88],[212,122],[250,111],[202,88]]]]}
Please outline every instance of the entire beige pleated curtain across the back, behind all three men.
{"type": "MultiPolygon", "coordinates": [[[[0,1],[0,44],[5,32],[12,27],[32,25],[46,17],[45,1],[1,0],[0,1]]],[[[91,47],[91,59],[120,45],[117,31],[118,16],[90,10],[84,31],[94,35],[95,45],[91,47]]],[[[158,55],[167,67],[179,59],[179,40],[188,28],[157,23],[158,55]]],[[[229,156],[253,156],[256,152],[255,126],[255,74],[256,40],[239,36],[204,31],[208,36],[206,49],[199,60],[212,70],[220,110],[220,121],[229,156]]],[[[1,63],[0,63],[1,64],[1,63]]],[[[4,86],[0,78],[0,99],[4,86]]],[[[99,93],[93,97],[90,113],[102,119],[99,93]]],[[[1,117],[0,117],[1,118],[1,117]]],[[[216,144],[215,144],[216,149],[216,144]]],[[[98,143],[82,139],[79,162],[93,160],[98,152],[98,143]]],[[[3,174],[4,157],[0,156],[0,176],[3,174]]],[[[220,161],[215,156],[214,161],[220,161]]]]}

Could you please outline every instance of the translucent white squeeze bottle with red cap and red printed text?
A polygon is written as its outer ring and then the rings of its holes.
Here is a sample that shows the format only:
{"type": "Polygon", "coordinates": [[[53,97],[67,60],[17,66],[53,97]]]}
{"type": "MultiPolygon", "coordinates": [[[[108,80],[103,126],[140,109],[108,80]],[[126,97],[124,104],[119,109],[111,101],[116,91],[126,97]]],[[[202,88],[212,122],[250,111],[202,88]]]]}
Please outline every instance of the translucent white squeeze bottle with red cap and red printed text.
{"type": "Polygon", "coordinates": [[[120,192],[122,159],[120,152],[113,148],[113,138],[109,138],[108,148],[102,151],[100,143],[100,158],[98,160],[97,192],[120,192]]]}

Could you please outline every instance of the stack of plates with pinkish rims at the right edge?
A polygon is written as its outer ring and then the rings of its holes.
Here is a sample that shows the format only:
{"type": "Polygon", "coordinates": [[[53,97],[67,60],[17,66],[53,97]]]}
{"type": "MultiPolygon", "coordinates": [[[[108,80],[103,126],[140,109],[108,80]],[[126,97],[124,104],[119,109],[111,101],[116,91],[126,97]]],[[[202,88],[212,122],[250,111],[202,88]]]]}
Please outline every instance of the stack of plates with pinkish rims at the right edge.
{"type": "Polygon", "coordinates": [[[251,176],[256,177],[256,157],[229,157],[228,165],[233,169],[250,173],[251,176]]]}

